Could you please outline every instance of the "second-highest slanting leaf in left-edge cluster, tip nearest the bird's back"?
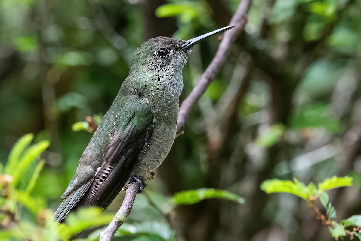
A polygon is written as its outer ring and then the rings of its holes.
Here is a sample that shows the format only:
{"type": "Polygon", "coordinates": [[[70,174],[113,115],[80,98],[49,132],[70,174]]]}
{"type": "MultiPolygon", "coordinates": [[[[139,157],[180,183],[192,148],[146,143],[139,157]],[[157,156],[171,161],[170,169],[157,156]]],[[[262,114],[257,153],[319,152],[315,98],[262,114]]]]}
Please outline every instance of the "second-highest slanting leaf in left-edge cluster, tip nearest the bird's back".
{"type": "Polygon", "coordinates": [[[35,159],[39,157],[40,154],[43,151],[45,151],[46,148],[49,147],[49,145],[50,142],[48,140],[42,140],[41,142],[34,144],[27,149],[25,156],[21,159],[21,161],[17,165],[16,170],[14,170],[14,174],[13,174],[14,186],[16,186],[16,184],[19,182],[22,173],[31,164],[31,162],[35,161],[35,159]]]}

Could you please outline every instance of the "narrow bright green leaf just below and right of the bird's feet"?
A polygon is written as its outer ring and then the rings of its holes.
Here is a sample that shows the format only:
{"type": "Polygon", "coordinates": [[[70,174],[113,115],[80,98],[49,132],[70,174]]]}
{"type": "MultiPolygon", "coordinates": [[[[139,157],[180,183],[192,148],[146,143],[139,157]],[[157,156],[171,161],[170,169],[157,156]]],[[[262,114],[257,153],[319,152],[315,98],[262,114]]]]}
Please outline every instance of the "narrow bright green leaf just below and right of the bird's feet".
{"type": "Polygon", "coordinates": [[[171,198],[171,202],[175,205],[190,205],[210,198],[221,198],[239,202],[240,204],[244,203],[244,199],[234,193],[213,188],[200,188],[178,192],[171,198]]]}

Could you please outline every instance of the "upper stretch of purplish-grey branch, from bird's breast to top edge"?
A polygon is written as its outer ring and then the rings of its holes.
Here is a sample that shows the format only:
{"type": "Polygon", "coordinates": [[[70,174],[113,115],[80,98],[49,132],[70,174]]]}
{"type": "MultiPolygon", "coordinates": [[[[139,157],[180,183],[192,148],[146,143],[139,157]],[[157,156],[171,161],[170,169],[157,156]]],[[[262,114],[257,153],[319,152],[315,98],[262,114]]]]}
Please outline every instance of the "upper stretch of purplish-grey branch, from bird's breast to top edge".
{"type": "Polygon", "coordinates": [[[229,57],[231,46],[239,34],[243,31],[244,26],[247,23],[247,14],[249,6],[251,5],[251,1],[252,0],[242,0],[240,2],[236,13],[229,22],[229,26],[235,27],[223,34],[223,39],[219,44],[219,48],[212,62],[210,62],[209,66],[204,71],[198,84],[193,88],[188,97],[182,102],[178,113],[177,132],[182,130],[184,122],[186,121],[191,108],[204,94],[210,83],[214,80],[217,73],[229,57]]]}

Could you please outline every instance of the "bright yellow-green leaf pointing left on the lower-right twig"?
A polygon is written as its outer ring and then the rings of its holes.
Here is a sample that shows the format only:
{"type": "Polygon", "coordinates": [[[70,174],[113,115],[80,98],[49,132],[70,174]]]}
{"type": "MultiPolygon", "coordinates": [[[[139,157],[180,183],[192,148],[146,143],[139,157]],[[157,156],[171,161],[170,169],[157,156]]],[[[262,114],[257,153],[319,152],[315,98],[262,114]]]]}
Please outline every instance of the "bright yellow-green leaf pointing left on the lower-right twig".
{"type": "Polygon", "coordinates": [[[313,183],[305,186],[305,184],[299,182],[296,178],[293,182],[290,180],[279,179],[265,180],[262,182],[260,188],[266,193],[286,192],[299,196],[305,200],[308,200],[317,192],[316,186],[313,183]]]}

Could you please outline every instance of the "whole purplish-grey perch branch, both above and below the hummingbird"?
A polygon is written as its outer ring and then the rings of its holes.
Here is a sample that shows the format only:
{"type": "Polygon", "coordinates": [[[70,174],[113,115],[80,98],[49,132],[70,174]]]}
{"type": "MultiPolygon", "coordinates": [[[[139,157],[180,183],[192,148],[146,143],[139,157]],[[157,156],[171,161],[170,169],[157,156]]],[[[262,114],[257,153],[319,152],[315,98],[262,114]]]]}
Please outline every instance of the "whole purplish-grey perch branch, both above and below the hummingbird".
{"type": "MultiPolygon", "coordinates": [[[[235,27],[225,32],[212,62],[206,68],[199,83],[191,91],[190,95],[182,102],[178,114],[177,132],[181,131],[181,128],[183,127],[192,106],[204,94],[209,84],[213,81],[216,74],[226,62],[230,54],[230,48],[232,44],[242,32],[245,24],[247,23],[247,14],[251,2],[252,0],[242,0],[240,2],[236,13],[233,15],[229,23],[230,26],[235,27]]],[[[110,239],[114,236],[118,228],[124,223],[124,220],[130,214],[134,204],[135,196],[137,195],[138,191],[139,185],[137,182],[131,182],[128,185],[122,206],[114,216],[112,222],[110,222],[109,226],[100,233],[99,241],[110,241],[110,239]]]]}

